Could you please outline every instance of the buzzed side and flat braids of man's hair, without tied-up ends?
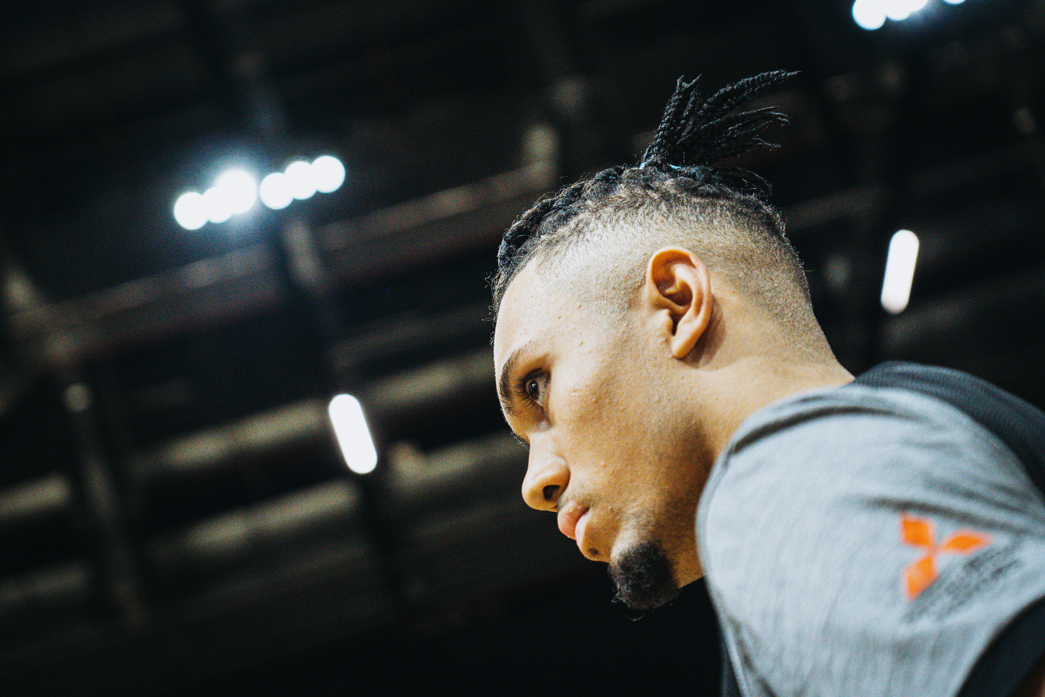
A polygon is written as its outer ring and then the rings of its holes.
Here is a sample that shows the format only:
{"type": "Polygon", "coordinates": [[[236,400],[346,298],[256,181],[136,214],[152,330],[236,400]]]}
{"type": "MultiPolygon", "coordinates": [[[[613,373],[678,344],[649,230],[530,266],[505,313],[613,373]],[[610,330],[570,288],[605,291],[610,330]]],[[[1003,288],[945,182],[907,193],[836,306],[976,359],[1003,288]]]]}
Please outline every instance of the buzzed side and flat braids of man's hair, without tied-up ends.
{"type": "Polygon", "coordinates": [[[681,247],[763,309],[796,348],[814,357],[830,355],[805,273],[775,210],[694,196],[674,179],[651,190],[632,183],[638,176],[637,168],[625,171],[609,195],[531,238],[518,263],[494,279],[494,302],[534,263],[550,282],[619,316],[635,301],[650,257],[681,247]]]}

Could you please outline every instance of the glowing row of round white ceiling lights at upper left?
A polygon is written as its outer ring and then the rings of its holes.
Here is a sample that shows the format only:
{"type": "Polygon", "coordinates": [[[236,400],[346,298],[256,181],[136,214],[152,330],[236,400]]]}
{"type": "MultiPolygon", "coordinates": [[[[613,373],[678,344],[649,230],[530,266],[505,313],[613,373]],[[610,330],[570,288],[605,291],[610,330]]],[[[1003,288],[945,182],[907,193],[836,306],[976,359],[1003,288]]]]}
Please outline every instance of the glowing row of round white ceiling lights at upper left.
{"type": "Polygon", "coordinates": [[[203,193],[189,191],[175,202],[175,219],[186,230],[199,230],[208,223],[225,223],[246,213],[260,199],[273,210],[286,208],[295,200],[311,198],[317,191],[336,191],[345,181],[345,165],[324,155],[311,162],[297,160],[283,171],[269,175],[258,184],[245,169],[229,169],[203,193]]]}

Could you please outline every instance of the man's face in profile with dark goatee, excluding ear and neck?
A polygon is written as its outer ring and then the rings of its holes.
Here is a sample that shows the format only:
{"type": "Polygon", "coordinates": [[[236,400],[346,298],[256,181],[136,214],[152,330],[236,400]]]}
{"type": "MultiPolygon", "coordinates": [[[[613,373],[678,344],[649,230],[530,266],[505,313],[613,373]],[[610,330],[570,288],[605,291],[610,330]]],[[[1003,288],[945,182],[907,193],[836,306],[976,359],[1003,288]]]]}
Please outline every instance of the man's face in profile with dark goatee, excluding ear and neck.
{"type": "Polygon", "coordinates": [[[522,496],[555,511],[588,559],[610,564],[622,599],[663,604],[700,576],[694,516],[706,478],[681,369],[641,306],[599,315],[587,291],[512,281],[494,358],[505,416],[530,447],[522,496]]]}

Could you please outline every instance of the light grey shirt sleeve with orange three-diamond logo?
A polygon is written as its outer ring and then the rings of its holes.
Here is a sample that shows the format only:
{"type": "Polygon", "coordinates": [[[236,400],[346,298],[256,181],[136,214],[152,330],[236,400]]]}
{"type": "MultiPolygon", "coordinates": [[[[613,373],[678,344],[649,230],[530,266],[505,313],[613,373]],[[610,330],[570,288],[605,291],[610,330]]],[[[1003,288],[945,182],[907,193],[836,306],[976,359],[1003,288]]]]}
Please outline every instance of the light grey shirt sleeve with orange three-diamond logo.
{"type": "Polygon", "coordinates": [[[1045,597],[1045,503],[1020,461],[902,390],[753,414],[712,470],[697,540],[747,697],[955,695],[1045,597]]]}

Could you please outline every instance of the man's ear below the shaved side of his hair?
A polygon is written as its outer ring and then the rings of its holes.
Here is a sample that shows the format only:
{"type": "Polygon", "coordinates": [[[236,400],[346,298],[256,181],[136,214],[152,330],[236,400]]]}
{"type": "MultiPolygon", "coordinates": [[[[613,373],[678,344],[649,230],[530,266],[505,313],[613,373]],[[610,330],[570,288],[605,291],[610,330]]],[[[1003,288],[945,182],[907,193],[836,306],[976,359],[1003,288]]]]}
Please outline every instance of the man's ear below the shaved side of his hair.
{"type": "Polygon", "coordinates": [[[712,318],[714,298],[704,262],[678,247],[655,252],[646,266],[644,296],[670,332],[672,355],[679,359],[690,355],[712,318]]]}

